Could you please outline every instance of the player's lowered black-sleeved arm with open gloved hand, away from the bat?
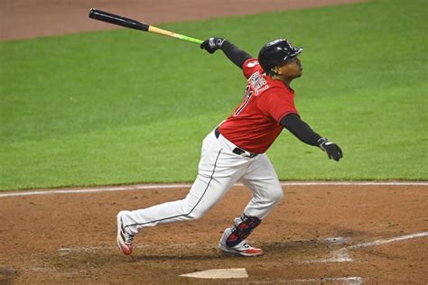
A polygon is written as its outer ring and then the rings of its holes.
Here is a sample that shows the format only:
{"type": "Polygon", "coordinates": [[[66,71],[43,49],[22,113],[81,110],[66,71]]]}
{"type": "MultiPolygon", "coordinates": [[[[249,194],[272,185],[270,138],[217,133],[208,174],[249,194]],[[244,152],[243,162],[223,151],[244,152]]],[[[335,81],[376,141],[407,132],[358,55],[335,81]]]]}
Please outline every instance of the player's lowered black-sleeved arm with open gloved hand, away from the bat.
{"type": "Polygon", "coordinates": [[[329,159],[339,161],[343,157],[339,145],[313,132],[309,124],[304,123],[299,115],[293,113],[285,115],[280,124],[302,142],[320,147],[322,151],[327,152],[329,159]]]}

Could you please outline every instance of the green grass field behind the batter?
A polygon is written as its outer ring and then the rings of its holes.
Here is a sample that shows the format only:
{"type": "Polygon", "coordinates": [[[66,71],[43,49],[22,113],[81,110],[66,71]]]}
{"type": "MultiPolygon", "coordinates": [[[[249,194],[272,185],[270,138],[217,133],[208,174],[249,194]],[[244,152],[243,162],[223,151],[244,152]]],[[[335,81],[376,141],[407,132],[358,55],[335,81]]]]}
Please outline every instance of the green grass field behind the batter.
{"type": "MultiPolygon", "coordinates": [[[[384,0],[161,26],[253,55],[305,48],[296,105],[344,159],[284,132],[268,152],[281,179],[426,180],[426,14],[384,0]]],[[[0,60],[0,189],[191,181],[246,85],[221,52],[127,29],[2,42],[0,60]]]]}

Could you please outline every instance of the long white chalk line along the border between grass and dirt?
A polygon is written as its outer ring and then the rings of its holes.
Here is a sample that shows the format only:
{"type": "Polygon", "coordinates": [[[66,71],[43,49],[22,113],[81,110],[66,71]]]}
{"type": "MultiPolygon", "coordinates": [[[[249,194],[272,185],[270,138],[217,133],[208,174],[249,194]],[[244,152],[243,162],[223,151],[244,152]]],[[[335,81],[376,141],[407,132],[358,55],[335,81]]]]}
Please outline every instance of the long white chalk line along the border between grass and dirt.
{"type": "MultiPolygon", "coordinates": [[[[243,186],[241,183],[235,186],[243,186]]],[[[426,181],[307,181],[307,182],[282,182],[281,186],[428,186],[426,181]]],[[[33,195],[52,195],[52,194],[79,194],[79,193],[100,193],[111,191],[132,191],[132,190],[148,190],[148,189],[175,189],[175,188],[191,188],[191,184],[156,184],[156,185],[133,185],[122,187],[103,187],[103,188],[81,188],[81,189],[40,189],[40,190],[25,190],[19,192],[0,193],[0,198],[7,197],[23,197],[33,195]]]]}

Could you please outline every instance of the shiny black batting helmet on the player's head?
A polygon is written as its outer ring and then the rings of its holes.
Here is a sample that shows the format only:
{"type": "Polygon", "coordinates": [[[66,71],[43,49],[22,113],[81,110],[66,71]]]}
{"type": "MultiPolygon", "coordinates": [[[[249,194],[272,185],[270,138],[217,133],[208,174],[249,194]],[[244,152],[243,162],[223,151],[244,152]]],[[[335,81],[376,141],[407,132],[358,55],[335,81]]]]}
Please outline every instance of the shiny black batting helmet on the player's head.
{"type": "Polygon", "coordinates": [[[291,60],[303,51],[302,48],[294,48],[288,40],[275,40],[267,42],[258,53],[258,62],[266,74],[272,75],[272,69],[281,63],[291,60]]]}

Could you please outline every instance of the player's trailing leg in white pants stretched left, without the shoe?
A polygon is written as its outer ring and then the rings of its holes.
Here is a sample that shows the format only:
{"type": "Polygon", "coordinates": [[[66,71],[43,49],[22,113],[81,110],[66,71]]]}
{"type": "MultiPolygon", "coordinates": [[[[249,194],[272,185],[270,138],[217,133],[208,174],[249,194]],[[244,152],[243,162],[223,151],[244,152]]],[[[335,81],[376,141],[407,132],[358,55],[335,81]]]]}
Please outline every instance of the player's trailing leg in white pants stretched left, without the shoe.
{"type": "Polygon", "coordinates": [[[127,234],[141,228],[203,216],[247,170],[248,160],[237,156],[209,133],[202,144],[199,173],[186,198],[135,211],[121,212],[127,234]]]}

